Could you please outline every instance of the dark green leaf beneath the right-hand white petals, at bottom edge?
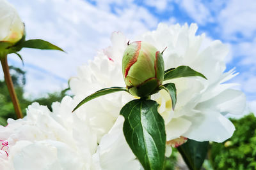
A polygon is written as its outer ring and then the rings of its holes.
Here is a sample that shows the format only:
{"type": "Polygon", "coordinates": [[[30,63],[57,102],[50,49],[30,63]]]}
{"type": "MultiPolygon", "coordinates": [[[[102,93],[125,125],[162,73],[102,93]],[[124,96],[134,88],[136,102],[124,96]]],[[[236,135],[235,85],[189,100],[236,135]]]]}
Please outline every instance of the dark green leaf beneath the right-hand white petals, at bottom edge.
{"type": "Polygon", "coordinates": [[[177,149],[182,155],[187,166],[191,170],[199,170],[204,163],[208,151],[209,141],[198,142],[192,139],[182,145],[177,149]]]}

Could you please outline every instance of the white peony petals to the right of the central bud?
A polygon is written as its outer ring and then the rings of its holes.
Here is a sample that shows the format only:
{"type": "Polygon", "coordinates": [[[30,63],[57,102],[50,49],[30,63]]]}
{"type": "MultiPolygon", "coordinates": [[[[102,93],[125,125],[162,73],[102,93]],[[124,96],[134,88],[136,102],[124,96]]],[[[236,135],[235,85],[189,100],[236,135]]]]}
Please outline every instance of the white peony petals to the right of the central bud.
{"type": "Polygon", "coordinates": [[[159,92],[152,98],[164,105],[159,112],[166,124],[168,141],[184,136],[196,141],[222,142],[230,138],[235,130],[224,115],[243,113],[245,96],[239,90],[230,89],[234,84],[224,83],[236,76],[234,70],[223,73],[227,45],[218,40],[207,45],[209,39],[204,34],[195,36],[196,30],[196,24],[190,27],[159,24],[156,31],[141,36],[141,40],[152,43],[158,49],[167,46],[163,53],[166,69],[186,65],[208,79],[189,77],[168,81],[177,87],[175,111],[170,110],[170,97],[166,96],[166,92],[159,92]]]}

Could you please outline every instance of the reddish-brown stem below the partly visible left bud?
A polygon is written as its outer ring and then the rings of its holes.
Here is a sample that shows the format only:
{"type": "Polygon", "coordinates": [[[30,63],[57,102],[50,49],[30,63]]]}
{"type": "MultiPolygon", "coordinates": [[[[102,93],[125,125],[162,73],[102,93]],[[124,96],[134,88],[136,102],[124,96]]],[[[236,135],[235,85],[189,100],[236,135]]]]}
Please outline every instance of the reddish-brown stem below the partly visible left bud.
{"type": "Polygon", "coordinates": [[[8,90],[9,90],[15,113],[17,115],[17,118],[22,118],[22,112],[20,109],[19,101],[18,101],[16,92],[15,92],[15,89],[13,87],[12,77],[11,77],[10,71],[9,71],[7,56],[3,57],[0,60],[1,60],[1,64],[3,67],[3,71],[4,71],[4,80],[6,82],[8,90]]]}

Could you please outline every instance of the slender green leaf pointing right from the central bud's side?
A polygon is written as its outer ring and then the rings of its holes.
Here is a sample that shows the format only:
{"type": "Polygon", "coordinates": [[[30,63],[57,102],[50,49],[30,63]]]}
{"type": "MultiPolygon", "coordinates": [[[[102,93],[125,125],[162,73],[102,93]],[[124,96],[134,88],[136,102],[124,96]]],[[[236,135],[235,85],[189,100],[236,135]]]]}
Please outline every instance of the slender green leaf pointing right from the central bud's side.
{"type": "Polygon", "coordinates": [[[168,69],[164,71],[164,80],[189,76],[201,76],[207,80],[203,74],[191,69],[189,66],[179,66],[175,69],[168,69]]]}

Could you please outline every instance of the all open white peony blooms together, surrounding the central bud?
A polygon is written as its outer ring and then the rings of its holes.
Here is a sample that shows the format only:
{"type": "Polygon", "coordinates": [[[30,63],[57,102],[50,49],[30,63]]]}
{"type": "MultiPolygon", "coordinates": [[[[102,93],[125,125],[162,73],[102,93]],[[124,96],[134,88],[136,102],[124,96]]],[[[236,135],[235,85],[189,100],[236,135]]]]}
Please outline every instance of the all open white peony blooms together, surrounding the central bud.
{"type": "MultiPolygon", "coordinates": [[[[195,24],[159,24],[156,31],[138,38],[160,51],[167,46],[163,53],[165,69],[185,65],[208,79],[170,80],[177,87],[174,111],[166,92],[152,96],[160,104],[159,113],[166,125],[167,155],[170,146],[186,138],[217,142],[230,138],[235,128],[224,115],[244,109],[244,94],[230,89],[234,84],[223,83],[235,76],[233,70],[223,73],[227,46],[209,41],[204,34],[195,36],[196,29],[195,24]]],[[[70,81],[73,99],[64,97],[61,103],[53,103],[52,112],[33,103],[25,118],[9,119],[6,127],[0,127],[0,169],[142,168],[125,141],[124,118],[119,116],[122,106],[134,97],[126,92],[108,94],[71,113],[79,101],[99,89],[125,87],[121,64],[127,39],[114,32],[111,42],[112,46],[101,50],[89,64],[79,67],[77,77],[70,81]]]]}

